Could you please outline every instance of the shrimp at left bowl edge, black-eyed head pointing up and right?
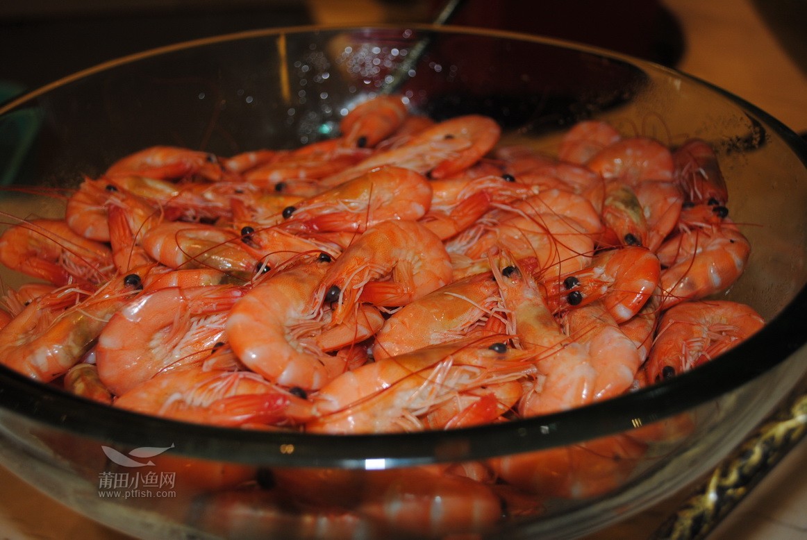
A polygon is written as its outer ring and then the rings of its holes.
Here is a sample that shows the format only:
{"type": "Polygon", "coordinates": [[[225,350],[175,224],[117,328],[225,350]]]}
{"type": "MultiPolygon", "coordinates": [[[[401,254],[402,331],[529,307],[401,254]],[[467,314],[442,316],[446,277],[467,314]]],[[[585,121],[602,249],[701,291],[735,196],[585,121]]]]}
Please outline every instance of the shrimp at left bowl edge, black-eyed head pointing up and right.
{"type": "Polygon", "coordinates": [[[0,330],[0,362],[42,382],[64,375],[141,283],[133,273],[92,294],[65,288],[38,297],[0,330]]]}

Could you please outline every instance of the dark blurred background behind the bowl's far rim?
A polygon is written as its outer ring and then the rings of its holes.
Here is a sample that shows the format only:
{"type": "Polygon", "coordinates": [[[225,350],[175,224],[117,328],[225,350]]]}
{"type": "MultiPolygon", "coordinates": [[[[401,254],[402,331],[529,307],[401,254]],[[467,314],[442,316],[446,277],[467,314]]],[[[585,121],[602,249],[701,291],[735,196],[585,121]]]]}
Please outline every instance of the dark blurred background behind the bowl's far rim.
{"type": "MultiPolygon", "coordinates": [[[[428,23],[445,0],[4,0],[0,102],[81,69],[189,39],[312,23],[428,23]]],[[[568,39],[675,66],[684,43],[655,0],[465,0],[451,24],[568,39]],[[585,16],[581,16],[581,15],[585,16]]]]}

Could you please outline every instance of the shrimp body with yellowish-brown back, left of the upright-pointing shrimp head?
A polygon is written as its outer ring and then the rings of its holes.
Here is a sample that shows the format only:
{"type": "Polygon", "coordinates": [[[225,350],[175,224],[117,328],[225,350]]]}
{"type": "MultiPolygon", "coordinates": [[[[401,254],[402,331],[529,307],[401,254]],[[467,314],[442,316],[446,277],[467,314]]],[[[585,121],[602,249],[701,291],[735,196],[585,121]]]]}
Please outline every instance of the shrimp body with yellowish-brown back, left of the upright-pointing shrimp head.
{"type": "Polygon", "coordinates": [[[479,326],[499,303],[490,272],[454,280],[392,314],[375,335],[375,359],[454,341],[479,326]]]}

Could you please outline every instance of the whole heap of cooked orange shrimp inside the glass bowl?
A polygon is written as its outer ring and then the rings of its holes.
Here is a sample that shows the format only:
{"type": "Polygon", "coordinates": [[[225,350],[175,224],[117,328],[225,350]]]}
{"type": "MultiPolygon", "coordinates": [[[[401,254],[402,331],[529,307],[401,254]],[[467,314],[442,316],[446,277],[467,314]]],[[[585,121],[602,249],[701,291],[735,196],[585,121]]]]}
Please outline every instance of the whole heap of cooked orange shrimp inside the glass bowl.
{"type": "Polygon", "coordinates": [[[641,388],[763,326],[713,149],[571,127],[557,156],[401,98],[341,136],[125,156],[26,219],[0,362],[113,406],[324,433],[449,429],[641,388]]]}

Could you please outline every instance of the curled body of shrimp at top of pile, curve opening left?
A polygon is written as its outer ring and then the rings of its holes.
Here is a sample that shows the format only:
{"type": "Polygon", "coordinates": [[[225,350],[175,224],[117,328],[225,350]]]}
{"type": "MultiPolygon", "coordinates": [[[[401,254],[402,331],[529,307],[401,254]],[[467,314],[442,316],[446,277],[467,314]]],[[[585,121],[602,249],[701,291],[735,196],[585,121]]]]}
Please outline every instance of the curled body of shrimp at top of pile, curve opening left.
{"type": "Polygon", "coordinates": [[[442,160],[428,172],[429,178],[446,178],[479,161],[499,142],[501,128],[492,118],[467,114],[450,118],[414,135],[403,147],[418,147],[422,143],[439,143],[445,139],[466,141],[467,147],[442,160]]]}

